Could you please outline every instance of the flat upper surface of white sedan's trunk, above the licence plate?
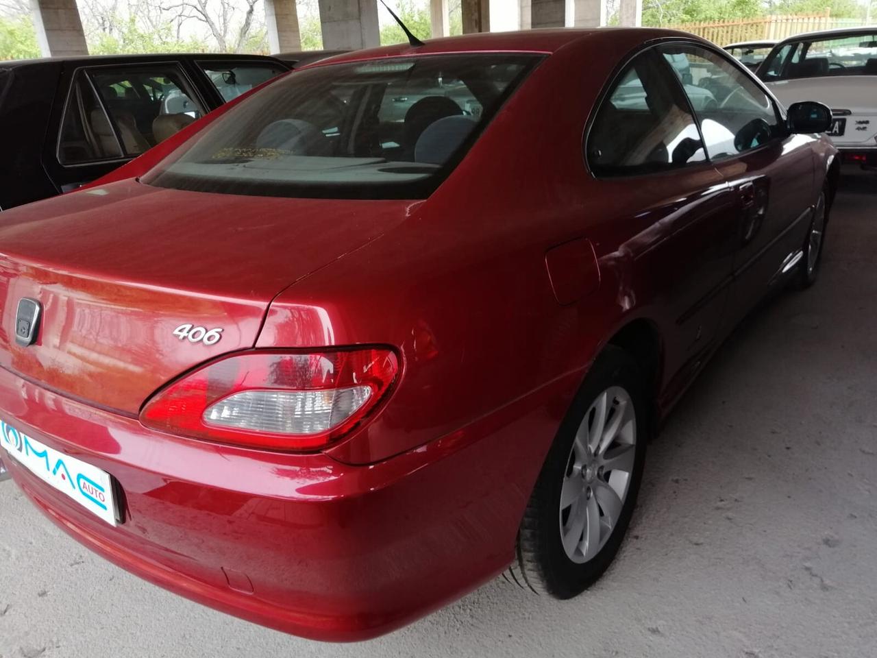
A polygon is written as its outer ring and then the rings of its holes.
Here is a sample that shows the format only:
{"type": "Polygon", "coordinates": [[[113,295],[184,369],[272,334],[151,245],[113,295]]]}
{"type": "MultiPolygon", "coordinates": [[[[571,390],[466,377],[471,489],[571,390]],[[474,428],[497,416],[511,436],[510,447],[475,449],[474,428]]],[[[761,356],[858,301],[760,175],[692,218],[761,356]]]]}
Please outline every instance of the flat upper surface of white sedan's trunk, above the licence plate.
{"type": "Polygon", "coordinates": [[[768,82],[781,103],[788,107],[799,101],[817,101],[832,110],[854,114],[877,114],[877,75],[838,75],[768,82]]]}

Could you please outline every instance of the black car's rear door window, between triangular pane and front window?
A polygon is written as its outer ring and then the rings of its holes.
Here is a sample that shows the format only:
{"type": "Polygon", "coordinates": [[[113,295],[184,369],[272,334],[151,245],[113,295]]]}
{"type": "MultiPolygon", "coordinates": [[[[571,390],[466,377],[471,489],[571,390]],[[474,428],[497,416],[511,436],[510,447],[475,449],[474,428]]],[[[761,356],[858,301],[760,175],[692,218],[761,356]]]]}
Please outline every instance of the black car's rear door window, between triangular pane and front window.
{"type": "Polygon", "coordinates": [[[204,113],[175,65],[93,68],[101,97],[125,155],[139,155],[204,113]]]}

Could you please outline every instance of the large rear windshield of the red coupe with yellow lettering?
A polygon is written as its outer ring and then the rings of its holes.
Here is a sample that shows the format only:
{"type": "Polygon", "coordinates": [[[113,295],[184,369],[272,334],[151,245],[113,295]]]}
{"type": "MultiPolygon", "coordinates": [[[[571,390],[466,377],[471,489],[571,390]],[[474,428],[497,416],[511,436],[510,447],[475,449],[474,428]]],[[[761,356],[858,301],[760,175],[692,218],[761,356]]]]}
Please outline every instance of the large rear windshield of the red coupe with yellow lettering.
{"type": "Polygon", "coordinates": [[[271,197],[425,198],[536,55],[426,55],[298,71],[232,108],[143,178],[271,197]]]}

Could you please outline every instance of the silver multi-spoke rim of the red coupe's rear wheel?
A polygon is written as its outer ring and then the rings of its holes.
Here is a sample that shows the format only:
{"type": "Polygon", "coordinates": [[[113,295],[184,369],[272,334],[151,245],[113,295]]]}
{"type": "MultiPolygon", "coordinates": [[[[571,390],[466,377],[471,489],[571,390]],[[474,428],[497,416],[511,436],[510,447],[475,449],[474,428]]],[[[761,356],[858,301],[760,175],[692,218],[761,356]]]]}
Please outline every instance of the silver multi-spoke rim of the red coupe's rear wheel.
{"type": "Polygon", "coordinates": [[[626,390],[598,395],[569,451],[560,489],[560,541],[567,557],[592,560],[615,530],[636,461],[637,417],[626,390]]]}

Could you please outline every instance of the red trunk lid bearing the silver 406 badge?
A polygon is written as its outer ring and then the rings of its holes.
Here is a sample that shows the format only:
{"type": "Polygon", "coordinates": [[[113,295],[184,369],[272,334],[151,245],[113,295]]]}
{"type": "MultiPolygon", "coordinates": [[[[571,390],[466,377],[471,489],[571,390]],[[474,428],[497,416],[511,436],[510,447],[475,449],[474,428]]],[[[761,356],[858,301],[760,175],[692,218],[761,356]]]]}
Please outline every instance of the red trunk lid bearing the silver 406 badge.
{"type": "Polygon", "coordinates": [[[408,205],[204,194],[128,180],[4,212],[0,367],[137,413],[176,375],[253,347],[273,297],[374,240],[408,205]],[[41,306],[26,347],[15,335],[23,298],[41,306]],[[220,340],[181,338],[181,325],[219,329],[220,340]]]}

